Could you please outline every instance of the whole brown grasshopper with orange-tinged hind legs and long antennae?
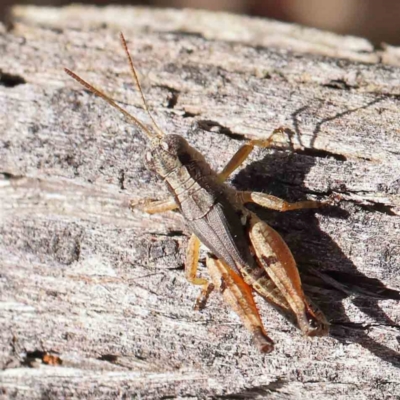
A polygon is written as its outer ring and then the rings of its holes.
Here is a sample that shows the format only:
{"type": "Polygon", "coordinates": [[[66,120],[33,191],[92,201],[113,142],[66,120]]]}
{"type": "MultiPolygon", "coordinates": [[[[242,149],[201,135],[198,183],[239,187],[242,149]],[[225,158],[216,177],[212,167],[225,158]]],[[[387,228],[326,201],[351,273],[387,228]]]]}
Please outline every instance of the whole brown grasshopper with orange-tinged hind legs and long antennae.
{"type": "Polygon", "coordinates": [[[270,146],[273,135],[280,130],[274,131],[267,139],[250,140],[239,148],[222,172],[215,172],[203,155],[183,137],[166,135],[159,128],[145,101],[125,38],[122,34],[120,36],[133,81],[152,129],[129,114],[111,97],[72,71],[65,71],[86,89],[119,110],[147,136],[150,150],[146,153],[146,162],[165,181],[172,196],[158,201],[145,199],[132,204],[132,207],[139,205],[149,214],[179,209],[192,232],[186,253],[185,276],[190,283],[202,286],[196,307],[205,305],[214,287],[219,289],[225,301],[252,333],[253,342],[263,353],[272,351],[274,343],[263,326],[253,291],[294,320],[305,335],[328,334],[329,324],[325,317],[311,306],[304,295],[296,262],[288,246],[274,229],[246,208],[246,204],[256,203],[273,210],[289,211],[320,207],[324,203],[311,200],[288,203],[265,193],[236,191],[224,183],[255,146],[270,146]],[[197,276],[201,243],[212,253],[206,259],[211,282],[197,276]]]}

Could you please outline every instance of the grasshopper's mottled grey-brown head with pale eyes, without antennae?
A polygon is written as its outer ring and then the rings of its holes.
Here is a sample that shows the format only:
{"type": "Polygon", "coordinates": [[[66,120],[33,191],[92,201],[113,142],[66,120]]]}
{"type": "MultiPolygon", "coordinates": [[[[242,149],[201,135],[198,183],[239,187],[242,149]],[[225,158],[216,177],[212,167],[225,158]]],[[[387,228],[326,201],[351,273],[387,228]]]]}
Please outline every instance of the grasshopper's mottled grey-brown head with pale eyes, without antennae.
{"type": "Polygon", "coordinates": [[[197,151],[182,136],[166,135],[152,142],[151,150],[146,154],[146,162],[151,170],[165,178],[198,156],[197,151]]]}

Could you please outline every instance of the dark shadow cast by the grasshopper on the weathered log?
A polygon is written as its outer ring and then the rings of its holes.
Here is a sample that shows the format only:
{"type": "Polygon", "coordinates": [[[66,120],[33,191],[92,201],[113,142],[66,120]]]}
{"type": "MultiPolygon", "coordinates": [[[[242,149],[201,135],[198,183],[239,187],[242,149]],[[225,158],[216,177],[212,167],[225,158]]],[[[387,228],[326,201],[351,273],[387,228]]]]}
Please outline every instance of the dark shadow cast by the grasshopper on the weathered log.
{"type": "MultiPolygon", "coordinates": [[[[293,119],[304,109],[303,107],[297,110],[293,119]]],[[[348,113],[353,111],[356,110],[349,110],[348,113]]],[[[342,115],[345,114],[340,113],[337,118],[342,115]]],[[[298,123],[294,122],[295,133],[300,137],[298,123]]],[[[309,190],[304,180],[315,165],[315,156],[321,155],[318,151],[315,154],[312,152],[311,156],[301,152],[277,150],[275,154],[266,155],[262,160],[241,170],[232,184],[238,190],[266,192],[288,201],[306,200],[309,190]]],[[[337,159],[341,162],[340,158],[337,159]]],[[[368,326],[352,322],[342,304],[344,299],[351,296],[352,303],[376,321],[377,325],[400,328],[378,304],[382,299],[400,300],[400,292],[389,289],[378,279],[369,278],[359,272],[335,241],[322,231],[316,217],[319,213],[328,218],[347,219],[349,213],[338,206],[287,213],[260,207],[255,207],[254,210],[282,235],[293,252],[305,292],[315,300],[331,323],[330,336],[342,343],[356,342],[382,360],[400,367],[400,354],[368,336],[368,326]],[[336,269],[335,265],[339,268],[336,269]]]]}

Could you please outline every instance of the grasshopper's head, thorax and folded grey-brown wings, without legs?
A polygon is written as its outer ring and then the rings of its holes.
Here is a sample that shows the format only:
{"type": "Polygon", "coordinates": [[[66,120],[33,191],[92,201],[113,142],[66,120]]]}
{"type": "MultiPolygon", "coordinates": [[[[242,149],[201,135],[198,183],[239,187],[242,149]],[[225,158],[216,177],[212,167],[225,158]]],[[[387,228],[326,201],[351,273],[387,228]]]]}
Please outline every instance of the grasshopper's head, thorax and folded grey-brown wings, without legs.
{"type": "Polygon", "coordinates": [[[242,207],[233,205],[233,189],[218,182],[203,155],[179,135],[166,135],[148,154],[150,169],[164,178],[190,230],[211,253],[236,271],[255,268],[242,207]]]}

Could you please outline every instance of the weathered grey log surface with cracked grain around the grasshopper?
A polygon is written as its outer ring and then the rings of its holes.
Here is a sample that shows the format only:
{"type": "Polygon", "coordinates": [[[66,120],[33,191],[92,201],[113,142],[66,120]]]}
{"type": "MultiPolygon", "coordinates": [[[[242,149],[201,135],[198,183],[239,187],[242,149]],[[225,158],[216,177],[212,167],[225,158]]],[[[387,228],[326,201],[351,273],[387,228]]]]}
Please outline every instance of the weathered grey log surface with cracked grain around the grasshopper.
{"type": "Polygon", "coordinates": [[[4,398],[399,398],[397,49],[190,10],[13,15],[0,27],[4,398]],[[218,293],[193,311],[181,217],[128,207],[167,195],[145,168],[144,137],[63,72],[148,122],[120,30],[159,124],[213,167],[247,138],[286,128],[235,187],[340,199],[319,211],[257,209],[292,249],[331,336],[303,337],[257,297],[276,344],[261,355],[218,293]]]}

